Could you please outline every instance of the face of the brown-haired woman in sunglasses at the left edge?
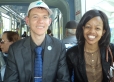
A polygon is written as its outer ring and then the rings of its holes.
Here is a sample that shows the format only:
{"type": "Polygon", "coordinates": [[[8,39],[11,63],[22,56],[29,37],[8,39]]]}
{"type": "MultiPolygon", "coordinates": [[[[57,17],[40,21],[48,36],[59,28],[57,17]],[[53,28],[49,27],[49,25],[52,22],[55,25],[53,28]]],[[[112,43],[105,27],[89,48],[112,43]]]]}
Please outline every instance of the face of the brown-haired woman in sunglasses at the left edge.
{"type": "Polygon", "coordinates": [[[4,33],[2,35],[2,41],[1,41],[1,50],[4,53],[8,52],[9,46],[12,44],[13,42],[9,42],[9,40],[7,39],[7,33],[4,33]]]}

